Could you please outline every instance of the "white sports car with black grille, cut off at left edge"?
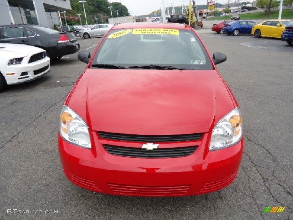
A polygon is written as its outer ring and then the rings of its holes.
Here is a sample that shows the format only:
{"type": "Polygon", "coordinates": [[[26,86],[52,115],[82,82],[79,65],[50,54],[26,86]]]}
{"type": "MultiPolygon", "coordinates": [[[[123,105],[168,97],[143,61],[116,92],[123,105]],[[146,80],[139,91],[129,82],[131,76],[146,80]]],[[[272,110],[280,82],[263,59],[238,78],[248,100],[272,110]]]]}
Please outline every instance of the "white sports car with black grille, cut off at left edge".
{"type": "Polygon", "coordinates": [[[46,51],[30,45],[0,43],[0,91],[6,85],[28,82],[50,71],[46,51]]]}

